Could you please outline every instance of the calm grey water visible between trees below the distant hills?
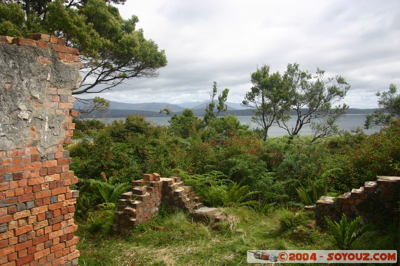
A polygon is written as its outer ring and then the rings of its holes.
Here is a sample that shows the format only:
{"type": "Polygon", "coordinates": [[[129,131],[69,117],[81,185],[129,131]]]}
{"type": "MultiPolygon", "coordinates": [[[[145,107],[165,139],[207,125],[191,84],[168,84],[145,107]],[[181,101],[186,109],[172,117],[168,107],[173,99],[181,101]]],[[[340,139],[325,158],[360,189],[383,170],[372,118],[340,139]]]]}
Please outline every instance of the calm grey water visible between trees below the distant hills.
{"type": "MultiPolygon", "coordinates": [[[[249,125],[250,128],[257,128],[260,127],[258,124],[253,123],[251,121],[251,116],[236,116],[237,120],[243,125],[249,125]]],[[[200,117],[202,119],[202,117],[200,117]]],[[[112,120],[118,120],[118,119],[123,119],[123,118],[108,118],[108,119],[102,119],[103,122],[109,122],[112,120]]],[[[169,125],[168,120],[170,117],[147,117],[146,118],[148,121],[153,122],[154,124],[161,125],[161,126],[167,126],[169,125]]],[[[100,120],[100,119],[99,119],[100,120]]],[[[350,131],[351,129],[356,129],[357,127],[363,128],[365,122],[365,114],[347,114],[344,115],[343,118],[337,123],[339,126],[339,129],[341,130],[346,130],[350,131]]],[[[295,125],[295,119],[292,118],[289,120],[289,125],[295,125]]],[[[379,131],[378,128],[373,128],[373,129],[364,129],[364,132],[367,134],[371,134],[374,132],[379,131]]],[[[269,137],[278,137],[278,136],[283,136],[287,134],[286,131],[276,125],[273,125],[269,128],[268,130],[268,136],[269,137]]],[[[303,127],[300,131],[301,135],[310,135],[311,134],[311,129],[309,126],[303,127]]]]}

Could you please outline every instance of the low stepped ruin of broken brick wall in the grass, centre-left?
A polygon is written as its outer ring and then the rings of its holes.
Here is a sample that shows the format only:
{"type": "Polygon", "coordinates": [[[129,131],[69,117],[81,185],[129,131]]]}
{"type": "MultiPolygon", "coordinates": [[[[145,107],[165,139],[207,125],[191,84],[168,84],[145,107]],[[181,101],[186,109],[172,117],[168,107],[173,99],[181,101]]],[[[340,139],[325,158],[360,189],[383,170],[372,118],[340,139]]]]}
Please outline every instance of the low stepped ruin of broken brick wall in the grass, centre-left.
{"type": "Polygon", "coordinates": [[[184,186],[179,177],[161,178],[158,174],[144,174],[132,182],[130,192],[121,194],[114,215],[112,230],[126,233],[136,225],[154,217],[161,204],[172,209],[191,211],[201,208],[201,199],[184,186]]]}

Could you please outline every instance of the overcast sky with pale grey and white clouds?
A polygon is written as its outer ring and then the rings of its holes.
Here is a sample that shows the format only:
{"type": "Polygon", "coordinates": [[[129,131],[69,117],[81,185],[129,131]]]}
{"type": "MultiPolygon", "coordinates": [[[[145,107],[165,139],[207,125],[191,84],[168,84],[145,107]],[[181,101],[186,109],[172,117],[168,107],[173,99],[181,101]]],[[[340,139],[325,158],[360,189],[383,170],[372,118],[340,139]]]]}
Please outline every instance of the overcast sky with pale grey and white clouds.
{"type": "Polygon", "coordinates": [[[108,100],[202,101],[216,81],[240,103],[257,66],[283,73],[293,62],[343,76],[353,108],[376,107],[390,83],[400,90],[399,0],[127,0],[119,11],[138,16],[168,65],[100,95],[108,100]]]}

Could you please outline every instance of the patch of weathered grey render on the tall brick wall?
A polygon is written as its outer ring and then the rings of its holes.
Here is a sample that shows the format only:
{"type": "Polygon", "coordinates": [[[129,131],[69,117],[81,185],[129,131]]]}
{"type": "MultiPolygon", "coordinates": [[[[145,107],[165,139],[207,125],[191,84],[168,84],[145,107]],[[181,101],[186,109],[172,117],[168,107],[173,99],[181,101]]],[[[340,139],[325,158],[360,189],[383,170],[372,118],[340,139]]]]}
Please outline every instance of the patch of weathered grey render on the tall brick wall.
{"type": "Polygon", "coordinates": [[[39,152],[56,145],[64,137],[60,125],[66,115],[54,113],[45,92],[68,88],[70,94],[79,80],[78,64],[62,63],[49,49],[0,44],[0,65],[0,150],[19,148],[32,131],[39,152]],[[39,56],[51,63],[39,62],[39,56]]]}

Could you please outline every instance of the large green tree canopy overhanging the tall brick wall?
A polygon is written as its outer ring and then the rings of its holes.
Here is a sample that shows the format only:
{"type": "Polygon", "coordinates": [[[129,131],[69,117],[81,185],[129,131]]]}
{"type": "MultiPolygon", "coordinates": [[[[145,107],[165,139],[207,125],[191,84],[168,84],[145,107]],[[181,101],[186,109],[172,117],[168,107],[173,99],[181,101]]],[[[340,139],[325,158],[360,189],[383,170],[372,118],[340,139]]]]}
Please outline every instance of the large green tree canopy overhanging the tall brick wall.
{"type": "Polygon", "coordinates": [[[79,50],[82,81],[72,94],[109,90],[126,79],[157,76],[167,64],[164,50],[145,39],[139,21],[122,19],[125,0],[1,0],[0,34],[25,37],[41,32],[66,39],[79,50]]]}

